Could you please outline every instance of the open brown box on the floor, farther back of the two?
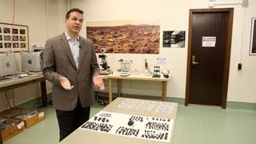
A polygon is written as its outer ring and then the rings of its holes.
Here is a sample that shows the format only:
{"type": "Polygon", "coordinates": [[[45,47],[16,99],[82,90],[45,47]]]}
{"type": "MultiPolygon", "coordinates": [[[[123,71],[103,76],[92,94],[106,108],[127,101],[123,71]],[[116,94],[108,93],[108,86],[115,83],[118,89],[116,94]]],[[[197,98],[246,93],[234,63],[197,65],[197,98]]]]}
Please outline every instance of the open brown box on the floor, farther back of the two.
{"type": "Polygon", "coordinates": [[[44,112],[40,112],[38,110],[26,110],[22,108],[6,110],[2,112],[2,117],[22,120],[25,122],[26,128],[29,128],[30,126],[33,126],[38,122],[41,122],[45,118],[44,112]]]}

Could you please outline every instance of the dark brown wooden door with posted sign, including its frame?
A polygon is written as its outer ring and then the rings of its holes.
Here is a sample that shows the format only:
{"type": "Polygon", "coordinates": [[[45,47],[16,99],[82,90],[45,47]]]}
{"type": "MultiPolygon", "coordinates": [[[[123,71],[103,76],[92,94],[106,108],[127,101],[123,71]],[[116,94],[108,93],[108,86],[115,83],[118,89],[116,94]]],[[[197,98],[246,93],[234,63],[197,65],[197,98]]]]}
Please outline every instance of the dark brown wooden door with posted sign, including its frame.
{"type": "Polygon", "coordinates": [[[190,10],[188,103],[226,108],[233,9],[190,10]]]}

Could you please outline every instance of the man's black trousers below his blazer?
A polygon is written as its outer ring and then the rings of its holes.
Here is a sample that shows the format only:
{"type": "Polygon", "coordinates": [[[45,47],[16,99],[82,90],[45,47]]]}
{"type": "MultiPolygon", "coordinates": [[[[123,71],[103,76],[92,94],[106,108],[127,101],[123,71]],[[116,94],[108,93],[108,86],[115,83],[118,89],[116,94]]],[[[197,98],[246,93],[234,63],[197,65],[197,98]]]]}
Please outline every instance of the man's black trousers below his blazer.
{"type": "Polygon", "coordinates": [[[56,110],[59,127],[59,142],[90,118],[90,106],[83,108],[78,98],[77,106],[72,111],[56,110]]]}

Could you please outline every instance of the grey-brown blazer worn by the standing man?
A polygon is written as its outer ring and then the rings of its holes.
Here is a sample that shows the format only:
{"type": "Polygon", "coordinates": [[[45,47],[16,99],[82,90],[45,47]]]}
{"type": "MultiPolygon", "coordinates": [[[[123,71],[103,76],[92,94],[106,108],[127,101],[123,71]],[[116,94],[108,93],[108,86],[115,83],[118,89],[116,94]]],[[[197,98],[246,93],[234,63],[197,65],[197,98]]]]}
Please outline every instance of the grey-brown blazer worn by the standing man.
{"type": "Polygon", "coordinates": [[[92,78],[99,74],[94,44],[80,36],[78,69],[70,50],[65,33],[46,41],[43,52],[42,74],[53,83],[53,106],[57,110],[74,110],[78,96],[83,107],[94,104],[92,78]],[[64,76],[74,86],[72,90],[64,90],[58,80],[64,76]]]}

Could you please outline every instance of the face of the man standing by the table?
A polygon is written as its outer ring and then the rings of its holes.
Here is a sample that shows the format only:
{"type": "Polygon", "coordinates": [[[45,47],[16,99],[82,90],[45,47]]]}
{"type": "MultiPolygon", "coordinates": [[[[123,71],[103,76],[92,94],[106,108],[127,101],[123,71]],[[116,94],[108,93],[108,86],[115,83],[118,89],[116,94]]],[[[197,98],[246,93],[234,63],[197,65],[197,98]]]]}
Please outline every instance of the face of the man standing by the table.
{"type": "Polygon", "coordinates": [[[78,12],[71,12],[70,18],[65,20],[66,28],[71,34],[78,34],[82,29],[83,15],[78,12]]]}

